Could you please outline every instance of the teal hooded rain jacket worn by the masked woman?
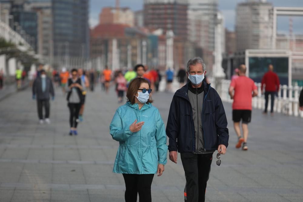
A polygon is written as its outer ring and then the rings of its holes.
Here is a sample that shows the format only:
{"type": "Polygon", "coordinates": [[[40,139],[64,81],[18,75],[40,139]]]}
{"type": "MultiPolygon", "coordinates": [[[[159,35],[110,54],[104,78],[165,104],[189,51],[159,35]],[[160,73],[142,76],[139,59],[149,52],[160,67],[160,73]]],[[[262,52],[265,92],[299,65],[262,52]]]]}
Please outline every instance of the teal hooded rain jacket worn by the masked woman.
{"type": "Polygon", "coordinates": [[[150,103],[145,103],[141,110],[138,104],[122,105],[109,128],[112,138],[120,144],[114,173],[156,174],[158,164],[167,163],[165,126],[159,110],[150,103]],[[135,120],[145,123],[140,131],[132,133],[129,127],[135,120]]]}

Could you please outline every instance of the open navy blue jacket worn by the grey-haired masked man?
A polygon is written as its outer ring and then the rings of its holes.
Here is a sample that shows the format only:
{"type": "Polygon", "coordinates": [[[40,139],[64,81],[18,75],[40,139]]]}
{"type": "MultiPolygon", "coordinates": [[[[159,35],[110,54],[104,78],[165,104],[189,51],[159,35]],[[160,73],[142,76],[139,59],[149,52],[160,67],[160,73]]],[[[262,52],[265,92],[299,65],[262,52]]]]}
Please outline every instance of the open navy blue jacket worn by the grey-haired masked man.
{"type": "MultiPolygon", "coordinates": [[[[210,84],[203,80],[204,99],[202,105],[202,126],[205,151],[217,150],[219,144],[228,146],[228,128],[225,110],[221,98],[210,84]]],[[[188,99],[188,82],[176,91],[171,101],[166,126],[169,138],[169,151],[195,153],[195,129],[192,120],[192,108],[188,99]]]]}

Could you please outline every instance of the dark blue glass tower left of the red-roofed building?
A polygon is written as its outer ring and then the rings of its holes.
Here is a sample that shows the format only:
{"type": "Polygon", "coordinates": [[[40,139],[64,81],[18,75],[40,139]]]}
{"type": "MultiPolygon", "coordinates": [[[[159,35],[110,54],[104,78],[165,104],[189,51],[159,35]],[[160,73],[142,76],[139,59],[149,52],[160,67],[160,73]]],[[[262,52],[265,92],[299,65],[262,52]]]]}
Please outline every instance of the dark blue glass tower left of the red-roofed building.
{"type": "Polygon", "coordinates": [[[88,0],[52,0],[54,56],[88,57],[88,0]]]}

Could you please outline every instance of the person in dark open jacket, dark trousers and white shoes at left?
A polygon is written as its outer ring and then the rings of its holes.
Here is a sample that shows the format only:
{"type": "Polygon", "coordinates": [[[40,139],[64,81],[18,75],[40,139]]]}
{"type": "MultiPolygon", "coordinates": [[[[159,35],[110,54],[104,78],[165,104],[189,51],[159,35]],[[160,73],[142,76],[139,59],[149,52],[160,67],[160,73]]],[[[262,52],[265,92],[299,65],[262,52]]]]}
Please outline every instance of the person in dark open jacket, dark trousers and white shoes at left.
{"type": "Polygon", "coordinates": [[[50,111],[50,104],[49,99],[52,95],[52,100],[55,99],[55,91],[52,84],[51,78],[46,76],[45,70],[40,71],[40,76],[38,76],[32,86],[32,97],[33,100],[37,100],[37,111],[38,111],[38,118],[39,123],[43,124],[43,107],[45,109],[45,122],[50,124],[51,121],[49,119],[49,111],[50,111]]]}

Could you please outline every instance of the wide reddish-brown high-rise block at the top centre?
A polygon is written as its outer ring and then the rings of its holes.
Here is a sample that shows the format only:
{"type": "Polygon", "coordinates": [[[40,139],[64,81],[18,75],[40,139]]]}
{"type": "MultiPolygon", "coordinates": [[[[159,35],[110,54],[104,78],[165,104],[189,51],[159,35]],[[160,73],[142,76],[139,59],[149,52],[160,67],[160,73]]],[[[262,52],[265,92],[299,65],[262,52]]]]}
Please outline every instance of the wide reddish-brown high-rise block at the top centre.
{"type": "Polygon", "coordinates": [[[150,30],[161,28],[164,33],[187,39],[188,0],[145,0],[144,26],[150,30]]]}

